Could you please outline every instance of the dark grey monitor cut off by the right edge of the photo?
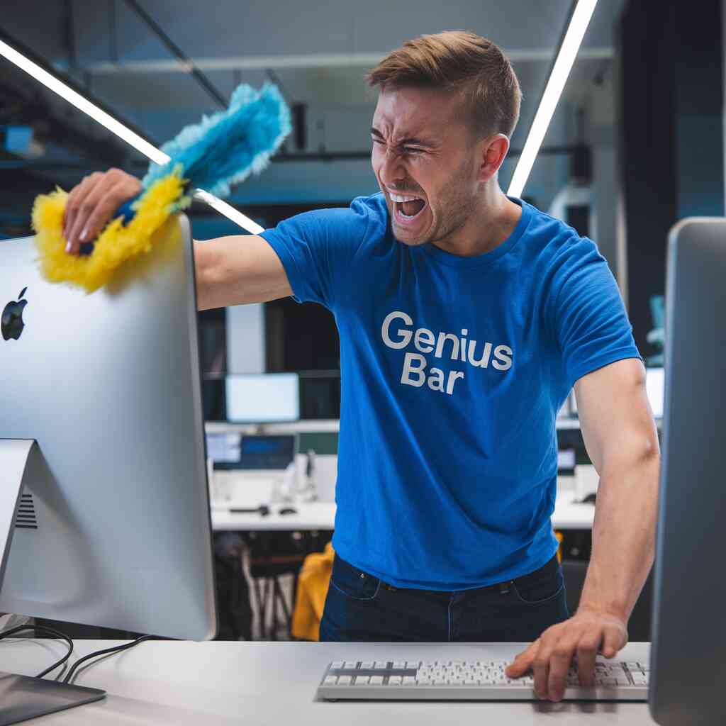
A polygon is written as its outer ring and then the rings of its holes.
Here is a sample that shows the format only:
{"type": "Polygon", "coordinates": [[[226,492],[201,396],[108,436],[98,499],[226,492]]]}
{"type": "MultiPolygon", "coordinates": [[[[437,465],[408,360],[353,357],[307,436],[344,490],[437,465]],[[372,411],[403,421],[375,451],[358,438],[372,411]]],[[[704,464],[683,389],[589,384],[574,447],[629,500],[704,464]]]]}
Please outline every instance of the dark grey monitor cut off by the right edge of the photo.
{"type": "Polygon", "coordinates": [[[726,723],[726,219],[669,234],[650,712],[726,723]]]}

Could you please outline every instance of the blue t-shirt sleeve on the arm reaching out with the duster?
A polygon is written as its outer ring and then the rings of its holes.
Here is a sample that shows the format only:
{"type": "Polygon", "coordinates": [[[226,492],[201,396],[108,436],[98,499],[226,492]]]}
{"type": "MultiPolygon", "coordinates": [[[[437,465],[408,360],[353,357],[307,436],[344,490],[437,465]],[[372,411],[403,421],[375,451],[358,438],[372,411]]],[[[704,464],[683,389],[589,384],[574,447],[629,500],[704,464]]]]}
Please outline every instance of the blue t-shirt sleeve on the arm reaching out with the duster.
{"type": "Polygon", "coordinates": [[[362,200],[356,197],[349,208],[296,214],[260,233],[280,258],[298,303],[334,309],[350,261],[367,231],[368,208],[362,200]]]}

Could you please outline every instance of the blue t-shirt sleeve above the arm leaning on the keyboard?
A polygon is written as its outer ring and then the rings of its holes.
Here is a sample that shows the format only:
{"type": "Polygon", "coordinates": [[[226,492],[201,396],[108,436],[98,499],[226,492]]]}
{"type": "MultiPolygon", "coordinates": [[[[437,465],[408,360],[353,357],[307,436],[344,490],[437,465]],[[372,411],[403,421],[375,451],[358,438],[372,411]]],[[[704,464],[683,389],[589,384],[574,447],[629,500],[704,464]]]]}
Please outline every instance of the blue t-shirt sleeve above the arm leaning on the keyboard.
{"type": "Polygon", "coordinates": [[[620,290],[595,242],[572,240],[558,257],[552,326],[568,386],[618,360],[642,360],[620,290]]]}

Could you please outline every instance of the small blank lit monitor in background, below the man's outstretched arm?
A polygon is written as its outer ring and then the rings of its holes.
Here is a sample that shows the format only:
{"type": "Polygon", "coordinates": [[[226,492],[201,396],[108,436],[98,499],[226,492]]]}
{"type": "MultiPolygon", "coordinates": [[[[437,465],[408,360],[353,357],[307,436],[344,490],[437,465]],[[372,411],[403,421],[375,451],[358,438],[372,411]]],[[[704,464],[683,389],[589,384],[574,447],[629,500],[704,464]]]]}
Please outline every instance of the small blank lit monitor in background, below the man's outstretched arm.
{"type": "Polygon", "coordinates": [[[225,398],[229,423],[284,423],[300,418],[297,373],[228,375],[225,398]]]}

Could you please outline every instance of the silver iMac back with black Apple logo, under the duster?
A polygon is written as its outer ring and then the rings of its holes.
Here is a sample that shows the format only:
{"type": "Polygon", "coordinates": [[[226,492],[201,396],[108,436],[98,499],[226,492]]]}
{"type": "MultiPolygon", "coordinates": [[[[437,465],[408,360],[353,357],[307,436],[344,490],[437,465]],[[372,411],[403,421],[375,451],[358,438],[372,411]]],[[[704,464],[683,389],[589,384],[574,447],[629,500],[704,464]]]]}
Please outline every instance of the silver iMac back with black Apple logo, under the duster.
{"type": "Polygon", "coordinates": [[[25,468],[0,612],[211,638],[189,220],[91,295],[46,282],[37,257],[33,237],[0,242],[0,311],[26,301],[0,338],[0,470],[25,468]]]}

